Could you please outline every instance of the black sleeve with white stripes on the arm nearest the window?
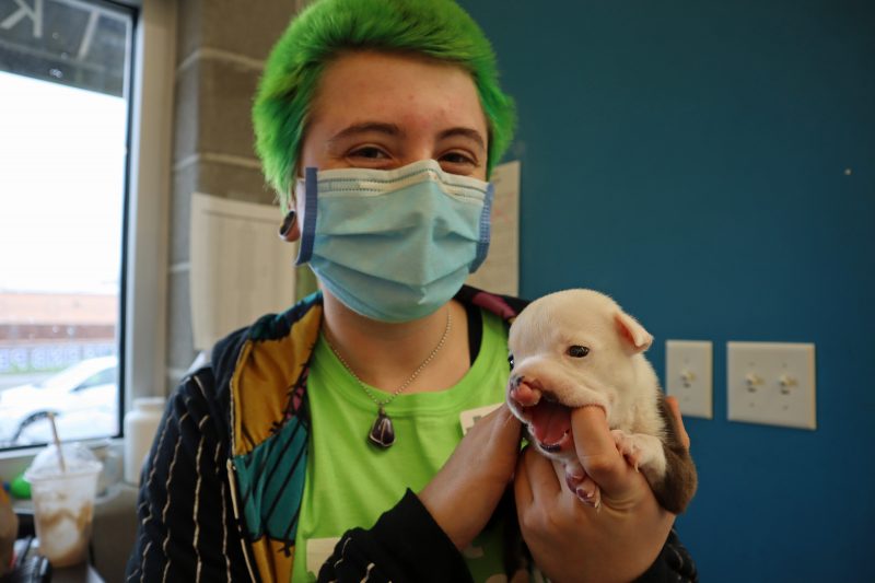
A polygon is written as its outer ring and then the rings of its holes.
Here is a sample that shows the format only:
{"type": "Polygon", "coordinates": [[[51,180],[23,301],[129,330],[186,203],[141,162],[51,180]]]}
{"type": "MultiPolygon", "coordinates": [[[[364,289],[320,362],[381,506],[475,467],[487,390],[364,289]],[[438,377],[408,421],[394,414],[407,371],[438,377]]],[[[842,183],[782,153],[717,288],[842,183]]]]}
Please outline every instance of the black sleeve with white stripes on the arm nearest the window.
{"type": "Polygon", "coordinates": [[[249,581],[209,369],[171,397],[143,466],[128,582],[249,581]]]}

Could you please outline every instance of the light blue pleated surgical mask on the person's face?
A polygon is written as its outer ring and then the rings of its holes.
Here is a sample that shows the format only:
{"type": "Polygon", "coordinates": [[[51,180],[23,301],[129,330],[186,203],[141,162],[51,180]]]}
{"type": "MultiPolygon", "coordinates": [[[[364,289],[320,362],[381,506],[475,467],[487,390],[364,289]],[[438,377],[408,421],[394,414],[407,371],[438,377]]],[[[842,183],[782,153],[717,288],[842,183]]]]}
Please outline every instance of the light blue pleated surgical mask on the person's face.
{"type": "Polygon", "coordinates": [[[332,295],[372,319],[432,314],[489,250],[492,185],[434,160],[392,171],[306,168],[298,196],[298,265],[310,263],[332,295]]]}

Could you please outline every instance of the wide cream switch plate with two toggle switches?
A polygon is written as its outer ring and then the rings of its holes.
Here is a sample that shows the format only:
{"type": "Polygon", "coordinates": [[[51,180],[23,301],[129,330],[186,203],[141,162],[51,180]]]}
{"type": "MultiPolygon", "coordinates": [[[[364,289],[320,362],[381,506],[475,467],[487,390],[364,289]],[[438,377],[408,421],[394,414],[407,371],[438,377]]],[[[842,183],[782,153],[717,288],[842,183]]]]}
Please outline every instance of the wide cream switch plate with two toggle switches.
{"type": "Polygon", "coordinates": [[[731,421],[817,429],[813,343],[727,342],[731,421]]]}

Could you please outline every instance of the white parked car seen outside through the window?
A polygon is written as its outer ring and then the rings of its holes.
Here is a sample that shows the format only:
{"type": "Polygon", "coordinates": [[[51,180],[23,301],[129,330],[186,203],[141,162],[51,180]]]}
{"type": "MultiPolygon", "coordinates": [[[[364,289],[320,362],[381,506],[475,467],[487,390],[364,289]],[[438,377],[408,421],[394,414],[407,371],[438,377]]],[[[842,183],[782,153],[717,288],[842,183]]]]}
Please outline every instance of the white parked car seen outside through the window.
{"type": "Polygon", "coordinates": [[[0,392],[0,445],[50,441],[50,412],[62,440],[115,435],[118,359],[83,360],[39,383],[0,392]]]}

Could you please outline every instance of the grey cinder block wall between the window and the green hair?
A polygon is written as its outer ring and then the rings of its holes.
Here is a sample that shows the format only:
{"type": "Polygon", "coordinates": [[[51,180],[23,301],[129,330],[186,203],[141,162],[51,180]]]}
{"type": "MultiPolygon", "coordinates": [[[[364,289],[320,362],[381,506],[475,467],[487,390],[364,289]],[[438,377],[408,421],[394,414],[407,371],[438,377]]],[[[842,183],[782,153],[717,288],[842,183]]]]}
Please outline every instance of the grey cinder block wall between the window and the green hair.
{"type": "MultiPolygon", "coordinates": [[[[305,0],[178,3],[173,188],[167,283],[167,389],[194,361],[189,305],[192,193],[272,203],[249,117],[271,46],[305,0]]],[[[277,210],[277,225],[281,220],[277,210]]]]}

